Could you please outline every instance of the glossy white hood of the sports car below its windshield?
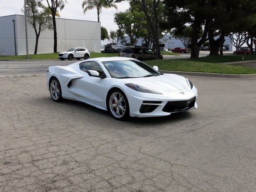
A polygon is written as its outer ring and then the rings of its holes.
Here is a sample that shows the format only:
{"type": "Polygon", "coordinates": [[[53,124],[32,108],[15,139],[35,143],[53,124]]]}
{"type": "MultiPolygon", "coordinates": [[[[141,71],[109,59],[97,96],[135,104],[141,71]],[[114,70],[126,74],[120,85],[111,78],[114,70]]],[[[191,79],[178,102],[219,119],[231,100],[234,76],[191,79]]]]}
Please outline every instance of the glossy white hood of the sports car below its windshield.
{"type": "Polygon", "coordinates": [[[173,74],[123,80],[125,80],[125,84],[137,84],[157,91],[179,91],[186,88],[186,80],[184,77],[173,74]]]}

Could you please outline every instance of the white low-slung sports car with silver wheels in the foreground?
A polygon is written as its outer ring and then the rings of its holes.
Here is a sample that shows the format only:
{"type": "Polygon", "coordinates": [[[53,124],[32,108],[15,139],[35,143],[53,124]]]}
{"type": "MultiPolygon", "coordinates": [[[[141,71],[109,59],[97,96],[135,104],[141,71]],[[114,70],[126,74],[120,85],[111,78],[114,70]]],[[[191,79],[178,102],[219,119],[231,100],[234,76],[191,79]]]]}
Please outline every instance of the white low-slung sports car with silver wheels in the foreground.
{"type": "Polygon", "coordinates": [[[81,101],[115,119],[156,117],[197,108],[196,87],[185,77],[162,74],[132,58],[87,59],[50,66],[46,86],[53,101],[81,101]]]}

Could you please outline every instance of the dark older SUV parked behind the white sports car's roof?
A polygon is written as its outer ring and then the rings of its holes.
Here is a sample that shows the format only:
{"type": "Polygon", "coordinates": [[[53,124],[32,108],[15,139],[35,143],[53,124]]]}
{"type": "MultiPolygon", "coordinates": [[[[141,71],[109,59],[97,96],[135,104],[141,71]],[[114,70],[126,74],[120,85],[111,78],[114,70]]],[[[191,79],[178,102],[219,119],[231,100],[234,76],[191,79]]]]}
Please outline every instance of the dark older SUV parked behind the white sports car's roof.
{"type": "MultiPolygon", "coordinates": [[[[120,57],[130,57],[139,60],[156,59],[156,52],[153,49],[142,46],[125,46],[119,53],[120,57]]],[[[161,59],[163,56],[161,55],[161,59]]]]}

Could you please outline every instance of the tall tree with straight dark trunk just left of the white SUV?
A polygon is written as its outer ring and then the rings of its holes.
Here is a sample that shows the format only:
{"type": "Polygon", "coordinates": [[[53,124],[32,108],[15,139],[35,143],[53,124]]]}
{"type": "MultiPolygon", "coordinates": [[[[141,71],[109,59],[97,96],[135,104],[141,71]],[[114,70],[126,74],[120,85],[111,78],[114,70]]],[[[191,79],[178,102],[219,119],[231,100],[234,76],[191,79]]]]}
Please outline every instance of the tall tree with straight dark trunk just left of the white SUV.
{"type": "Polygon", "coordinates": [[[51,10],[53,18],[53,52],[57,52],[57,30],[56,30],[56,14],[58,13],[57,9],[62,10],[65,6],[67,0],[46,0],[49,9],[51,10]]]}

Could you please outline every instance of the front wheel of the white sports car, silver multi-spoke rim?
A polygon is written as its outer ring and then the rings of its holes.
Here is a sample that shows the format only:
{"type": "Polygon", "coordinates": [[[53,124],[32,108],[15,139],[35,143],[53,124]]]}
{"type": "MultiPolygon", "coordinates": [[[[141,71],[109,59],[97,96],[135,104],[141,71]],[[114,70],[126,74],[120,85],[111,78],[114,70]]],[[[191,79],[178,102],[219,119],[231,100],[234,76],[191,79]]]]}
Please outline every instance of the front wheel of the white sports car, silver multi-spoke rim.
{"type": "Polygon", "coordinates": [[[124,92],[119,89],[115,89],[109,93],[107,108],[114,119],[125,120],[130,117],[128,100],[124,92]]]}

